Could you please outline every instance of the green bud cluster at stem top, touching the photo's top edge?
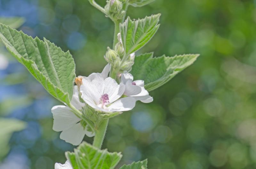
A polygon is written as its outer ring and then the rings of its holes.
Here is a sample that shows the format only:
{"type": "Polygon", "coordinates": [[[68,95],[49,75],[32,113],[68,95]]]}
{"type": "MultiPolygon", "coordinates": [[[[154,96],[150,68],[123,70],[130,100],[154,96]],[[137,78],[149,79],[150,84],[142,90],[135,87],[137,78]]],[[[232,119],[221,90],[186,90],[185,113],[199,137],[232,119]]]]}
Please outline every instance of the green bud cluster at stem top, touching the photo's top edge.
{"type": "Polygon", "coordinates": [[[125,16],[125,11],[123,10],[123,3],[126,0],[108,0],[105,10],[108,16],[113,20],[122,20],[125,16]]]}

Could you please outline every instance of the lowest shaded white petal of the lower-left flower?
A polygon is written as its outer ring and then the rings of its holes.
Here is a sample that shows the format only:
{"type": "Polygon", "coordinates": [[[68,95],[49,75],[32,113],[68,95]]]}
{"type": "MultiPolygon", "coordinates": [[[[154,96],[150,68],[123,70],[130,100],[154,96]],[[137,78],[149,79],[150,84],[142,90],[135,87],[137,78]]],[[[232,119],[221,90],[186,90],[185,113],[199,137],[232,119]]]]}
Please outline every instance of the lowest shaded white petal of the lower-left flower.
{"type": "Polygon", "coordinates": [[[84,127],[77,123],[75,126],[61,132],[60,139],[77,146],[83,141],[86,132],[84,127]]]}

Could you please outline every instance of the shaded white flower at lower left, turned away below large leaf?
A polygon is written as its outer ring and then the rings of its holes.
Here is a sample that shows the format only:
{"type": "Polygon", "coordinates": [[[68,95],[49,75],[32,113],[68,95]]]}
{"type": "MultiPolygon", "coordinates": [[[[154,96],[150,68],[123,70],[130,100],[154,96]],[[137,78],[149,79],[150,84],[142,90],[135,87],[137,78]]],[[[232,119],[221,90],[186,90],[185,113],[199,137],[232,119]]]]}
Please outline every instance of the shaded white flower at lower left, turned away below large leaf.
{"type": "MultiPolygon", "coordinates": [[[[81,110],[85,105],[79,101],[77,86],[74,86],[74,92],[71,104],[77,109],[81,110]]],[[[94,136],[94,133],[87,131],[80,124],[81,119],[78,118],[68,106],[58,105],[52,107],[53,127],[54,131],[62,131],[60,139],[65,140],[73,145],[79,145],[84,135],[88,137],[94,136]]]]}

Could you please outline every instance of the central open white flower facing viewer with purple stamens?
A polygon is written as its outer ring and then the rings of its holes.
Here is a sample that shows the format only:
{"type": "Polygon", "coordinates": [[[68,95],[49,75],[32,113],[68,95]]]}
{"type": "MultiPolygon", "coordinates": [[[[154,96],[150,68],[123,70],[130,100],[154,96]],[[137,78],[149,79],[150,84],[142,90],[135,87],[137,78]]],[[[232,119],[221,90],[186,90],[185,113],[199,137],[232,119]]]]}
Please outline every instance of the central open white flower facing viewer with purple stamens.
{"type": "Polygon", "coordinates": [[[110,77],[105,78],[104,74],[108,73],[92,73],[83,78],[80,92],[85,103],[103,112],[132,110],[136,99],[133,97],[120,98],[124,94],[125,85],[117,84],[110,77]]]}

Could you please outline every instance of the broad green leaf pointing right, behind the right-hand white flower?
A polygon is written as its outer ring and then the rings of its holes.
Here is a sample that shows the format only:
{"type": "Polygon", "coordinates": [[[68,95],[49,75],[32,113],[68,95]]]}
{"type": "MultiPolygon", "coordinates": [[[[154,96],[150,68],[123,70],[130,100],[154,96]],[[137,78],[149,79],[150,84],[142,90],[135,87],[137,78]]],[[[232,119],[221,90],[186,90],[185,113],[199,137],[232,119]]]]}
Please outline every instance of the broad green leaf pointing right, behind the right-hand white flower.
{"type": "Polygon", "coordinates": [[[193,64],[198,56],[198,54],[187,54],[153,58],[153,53],[146,53],[135,57],[130,73],[134,80],[144,80],[145,88],[151,91],[164,85],[176,74],[193,64]]]}

